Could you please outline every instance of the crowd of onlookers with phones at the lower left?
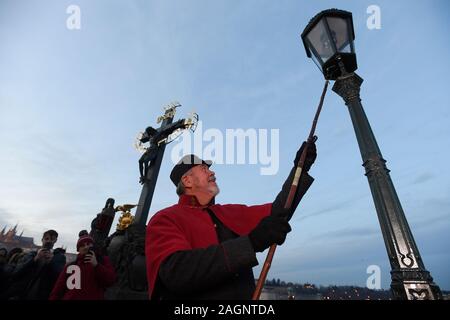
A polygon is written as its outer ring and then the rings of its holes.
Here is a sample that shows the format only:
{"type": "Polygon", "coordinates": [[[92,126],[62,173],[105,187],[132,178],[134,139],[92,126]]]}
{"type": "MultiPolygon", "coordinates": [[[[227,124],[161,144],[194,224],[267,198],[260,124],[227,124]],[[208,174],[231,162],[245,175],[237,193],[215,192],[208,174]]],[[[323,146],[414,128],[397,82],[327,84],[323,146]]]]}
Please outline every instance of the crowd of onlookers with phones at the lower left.
{"type": "Polygon", "coordinates": [[[65,250],[53,249],[57,240],[58,233],[48,230],[39,250],[0,248],[0,300],[104,299],[105,290],[116,281],[109,258],[94,248],[94,240],[83,230],[76,260],[66,263],[65,250]]]}

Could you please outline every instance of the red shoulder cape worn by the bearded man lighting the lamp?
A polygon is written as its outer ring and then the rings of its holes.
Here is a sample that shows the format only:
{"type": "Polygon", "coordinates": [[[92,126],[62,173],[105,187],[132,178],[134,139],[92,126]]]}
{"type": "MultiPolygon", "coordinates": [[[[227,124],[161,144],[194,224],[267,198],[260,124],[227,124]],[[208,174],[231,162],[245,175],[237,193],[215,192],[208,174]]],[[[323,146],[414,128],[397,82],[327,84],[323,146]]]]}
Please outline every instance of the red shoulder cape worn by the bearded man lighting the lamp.
{"type": "MultiPolygon", "coordinates": [[[[247,235],[262,218],[270,215],[272,203],[257,206],[214,204],[208,207],[239,236],[247,235]]],[[[193,196],[182,195],[178,204],[157,212],[147,225],[145,256],[148,293],[151,297],[161,262],[180,250],[218,244],[216,230],[206,210],[193,196]]]]}

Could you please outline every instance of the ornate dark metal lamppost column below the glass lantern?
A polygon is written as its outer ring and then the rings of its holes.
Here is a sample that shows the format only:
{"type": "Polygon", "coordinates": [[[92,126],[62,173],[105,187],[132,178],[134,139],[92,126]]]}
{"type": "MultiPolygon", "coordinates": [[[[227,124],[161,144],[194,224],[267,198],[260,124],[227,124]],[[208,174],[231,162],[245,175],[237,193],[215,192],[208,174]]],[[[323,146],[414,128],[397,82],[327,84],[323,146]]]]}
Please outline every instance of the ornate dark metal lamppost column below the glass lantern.
{"type": "Polygon", "coordinates": [[[350,112],[366,170],[384,243],[391,264],[392,293],[396,299],[437,299],[439,287],[425,269],[400,200],[386,167],[359,95],[363,79],[356,73],[339,77],[333,91],[350,112]]]}

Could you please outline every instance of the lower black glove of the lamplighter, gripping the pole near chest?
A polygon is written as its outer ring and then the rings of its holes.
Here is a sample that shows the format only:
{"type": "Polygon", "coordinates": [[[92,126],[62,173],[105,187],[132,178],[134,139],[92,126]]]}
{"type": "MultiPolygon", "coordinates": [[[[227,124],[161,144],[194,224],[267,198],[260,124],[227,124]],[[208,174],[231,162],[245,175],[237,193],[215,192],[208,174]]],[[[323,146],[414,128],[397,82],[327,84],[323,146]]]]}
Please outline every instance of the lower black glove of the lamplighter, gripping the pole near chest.
{"type": "Polygon", "coordinates": [[[255,252],[263,252],[274,243],[282,245],[290,231],[291,226],[286,219],[268,216],[262,219],[255,229],[249,233],[248,238],[255,252]]]}

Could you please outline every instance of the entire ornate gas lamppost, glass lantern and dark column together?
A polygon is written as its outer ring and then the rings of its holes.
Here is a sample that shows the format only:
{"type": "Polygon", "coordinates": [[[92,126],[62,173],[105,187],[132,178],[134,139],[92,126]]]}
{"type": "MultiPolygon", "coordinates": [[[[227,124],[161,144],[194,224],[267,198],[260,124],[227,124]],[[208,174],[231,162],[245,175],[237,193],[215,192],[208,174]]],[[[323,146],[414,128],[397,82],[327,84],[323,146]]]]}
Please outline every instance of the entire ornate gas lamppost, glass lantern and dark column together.
{"type": "Polygon", "coordinates": [[[373,201],[391,264],[391,289],[396,299],[439,299],[439,287],[425,269],[419,249],[364,112],[359,95],[363,79],[357,69],[352,14],[329,9],[317,14],[302,33],[308,57],[350,111],[373,201]]]}

